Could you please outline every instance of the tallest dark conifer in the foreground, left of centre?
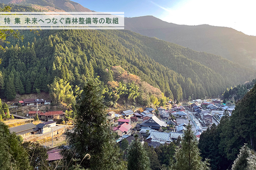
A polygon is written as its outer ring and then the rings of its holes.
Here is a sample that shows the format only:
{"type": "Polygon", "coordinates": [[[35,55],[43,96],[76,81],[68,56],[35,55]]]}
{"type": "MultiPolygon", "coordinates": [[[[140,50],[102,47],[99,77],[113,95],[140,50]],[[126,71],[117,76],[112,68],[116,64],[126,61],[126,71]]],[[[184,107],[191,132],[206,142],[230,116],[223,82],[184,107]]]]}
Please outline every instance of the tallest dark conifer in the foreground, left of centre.
{"type": "Polygon", "coordinates": [[[78,100],[75,126],[66,135],[67,147],[62,150],[65,166],[80,160],[82,168],[90,170],[123,170],[124,161],[107,122],[105,106],[99,88],[89,81],[78,100]],[[90,159],[83,159],[86,154],[90,159]],[[83,160],[83,161],[81,161],[83,160]]]}

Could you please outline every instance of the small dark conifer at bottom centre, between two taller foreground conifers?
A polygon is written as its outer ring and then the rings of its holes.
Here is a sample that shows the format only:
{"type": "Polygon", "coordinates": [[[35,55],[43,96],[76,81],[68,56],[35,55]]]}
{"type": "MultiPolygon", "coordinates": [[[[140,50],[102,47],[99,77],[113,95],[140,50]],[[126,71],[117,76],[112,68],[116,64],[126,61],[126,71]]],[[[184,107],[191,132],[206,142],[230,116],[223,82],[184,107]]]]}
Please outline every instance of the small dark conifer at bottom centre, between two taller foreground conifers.
{"type": "Polygon", "coordinates": [[[134,138],[134,141],[128,147],[128,170],[150,170],[150,162],[145,148],[137,134],[134,135],[134,138]]]}

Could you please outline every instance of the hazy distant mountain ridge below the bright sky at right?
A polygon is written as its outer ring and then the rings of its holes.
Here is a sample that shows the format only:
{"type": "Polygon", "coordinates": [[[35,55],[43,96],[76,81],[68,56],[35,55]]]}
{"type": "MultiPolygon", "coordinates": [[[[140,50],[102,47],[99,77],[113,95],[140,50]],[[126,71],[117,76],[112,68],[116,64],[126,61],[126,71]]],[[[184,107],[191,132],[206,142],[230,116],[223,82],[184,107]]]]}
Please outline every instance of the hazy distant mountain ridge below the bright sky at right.
{"type": "Polygon", "coordinates": [[[153,16],[143,16],[125,18],[125,29],[196,51],[220,55],[251,68],[255,68],[256,65],[256,37],[232,28],[177,25],[153,16]]]}

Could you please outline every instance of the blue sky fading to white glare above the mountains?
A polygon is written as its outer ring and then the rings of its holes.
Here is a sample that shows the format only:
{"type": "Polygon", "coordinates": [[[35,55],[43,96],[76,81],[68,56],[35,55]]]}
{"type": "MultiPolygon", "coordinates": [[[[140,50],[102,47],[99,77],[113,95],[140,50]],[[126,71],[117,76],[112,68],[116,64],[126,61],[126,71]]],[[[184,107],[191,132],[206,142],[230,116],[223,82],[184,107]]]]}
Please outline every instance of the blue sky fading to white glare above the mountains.
{"type": "Polygon", "coordinates": [[[231,27],[256,36],[255,0],[73,0],[90,10],[153,15],[175,24],[231,27]]]}

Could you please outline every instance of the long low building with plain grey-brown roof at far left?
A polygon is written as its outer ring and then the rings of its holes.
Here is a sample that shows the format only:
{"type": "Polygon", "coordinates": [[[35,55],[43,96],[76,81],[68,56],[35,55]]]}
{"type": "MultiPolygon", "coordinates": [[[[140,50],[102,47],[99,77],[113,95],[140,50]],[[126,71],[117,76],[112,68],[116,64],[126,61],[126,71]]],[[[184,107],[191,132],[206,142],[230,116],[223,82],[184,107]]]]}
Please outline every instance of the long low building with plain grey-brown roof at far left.
{"type": "Polygon", "coordinates": [[[9,128],[9,130],[11,133],[14,132],[16,135],[25,137],[37,133],[38,128],[33,123],[28,123],[25,125],[9,128]]]}

